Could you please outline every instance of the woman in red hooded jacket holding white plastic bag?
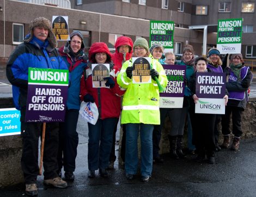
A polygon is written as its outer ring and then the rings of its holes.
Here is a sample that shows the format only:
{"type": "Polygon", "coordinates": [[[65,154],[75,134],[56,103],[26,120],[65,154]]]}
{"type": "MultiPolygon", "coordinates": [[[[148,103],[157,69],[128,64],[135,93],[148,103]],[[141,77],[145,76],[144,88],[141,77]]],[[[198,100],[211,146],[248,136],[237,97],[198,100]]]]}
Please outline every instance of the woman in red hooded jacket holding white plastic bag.
{"type": "Polygon", "coordinates": [[[104,42],[95,42],[89,50],[88,69],[81,78],[81,99],[84,102],[95,102],[99,110],[99,118],[95,125],[88,122],[88,177],[95,177],[95,170],[100,169],[102,177],[107,177],[106,168],[111,152],[114,127],[118,122],[121,101],[120,90],[115,79],[115,69],[111,61],[111,53],[104,42]],[[91,63],[91,64],[90,64],[91,63]],[[109,64],[110,77],[106,77],[109,88],[94,88],[92,79],[92,64],[109,64]]]}

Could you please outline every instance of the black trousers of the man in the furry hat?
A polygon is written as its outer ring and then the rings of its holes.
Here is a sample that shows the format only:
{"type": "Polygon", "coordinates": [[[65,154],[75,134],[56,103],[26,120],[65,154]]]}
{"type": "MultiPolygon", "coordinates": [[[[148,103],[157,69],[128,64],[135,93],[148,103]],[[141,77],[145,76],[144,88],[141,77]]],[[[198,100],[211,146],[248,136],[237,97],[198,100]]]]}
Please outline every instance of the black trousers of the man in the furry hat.
{"type": "MultiPolygon", "coordinates": [[[[22,156],[21,169],[26,184],[36,182],[39,175],[38,166],[38,146],[39,137],[42,134],[42,123],[25,122],[26,110],[21,110],[21,137],[22,137],[22,156]]],[[[57,177],[57,152],[58,152],[58,122],[46,123],[45,145],[44,145],[44,179],[57,177]]]]}

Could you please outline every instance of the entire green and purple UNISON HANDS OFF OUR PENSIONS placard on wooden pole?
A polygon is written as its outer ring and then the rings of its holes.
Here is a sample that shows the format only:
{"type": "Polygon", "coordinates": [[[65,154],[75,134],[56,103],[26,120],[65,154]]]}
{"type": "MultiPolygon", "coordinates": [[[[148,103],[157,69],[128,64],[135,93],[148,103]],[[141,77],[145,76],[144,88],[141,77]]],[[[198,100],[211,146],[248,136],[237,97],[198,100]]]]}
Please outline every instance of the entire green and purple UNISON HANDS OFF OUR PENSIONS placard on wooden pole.
{"type": "Polygon", "coordinates": [[[64,122],[69,70],[28,68],[26,122],[64,122]]]}

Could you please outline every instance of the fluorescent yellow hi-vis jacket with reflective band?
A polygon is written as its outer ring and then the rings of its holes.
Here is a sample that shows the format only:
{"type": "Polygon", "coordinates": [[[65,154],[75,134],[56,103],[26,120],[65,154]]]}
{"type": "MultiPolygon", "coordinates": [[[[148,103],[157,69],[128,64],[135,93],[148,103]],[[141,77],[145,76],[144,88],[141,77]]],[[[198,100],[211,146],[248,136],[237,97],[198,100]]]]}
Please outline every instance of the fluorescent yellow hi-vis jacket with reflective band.
{"type": "MultiPolygon", "coordinates": [[[[159,61],[151,58],[151,66],[159,72],[159,82],[163,88],[166,87],[168,80],[159,61]]],[[[133,83],[132,79],[127,77],[126,68],[132,66],[132,59],[125,61],[117,77],[118,84],[125,88],[123,98],[123,110],[121,115],[121,124],[143,123],[150,125],[160,125],[159,112],[159,88],[154,79],[151,83],[133,83]]]]}

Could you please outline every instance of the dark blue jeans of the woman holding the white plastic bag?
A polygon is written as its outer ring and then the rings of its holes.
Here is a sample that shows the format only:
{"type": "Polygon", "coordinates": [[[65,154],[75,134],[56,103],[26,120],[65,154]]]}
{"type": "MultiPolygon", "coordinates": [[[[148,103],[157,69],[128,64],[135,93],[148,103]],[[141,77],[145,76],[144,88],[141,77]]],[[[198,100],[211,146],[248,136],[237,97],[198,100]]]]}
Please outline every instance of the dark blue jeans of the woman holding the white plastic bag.
{"type": "Polygon", "coordinates": [[[111,153],[114,127],[118,118],[98,119],[95,125],[88,122],[88,169],[106,169],[111,153]]]}

